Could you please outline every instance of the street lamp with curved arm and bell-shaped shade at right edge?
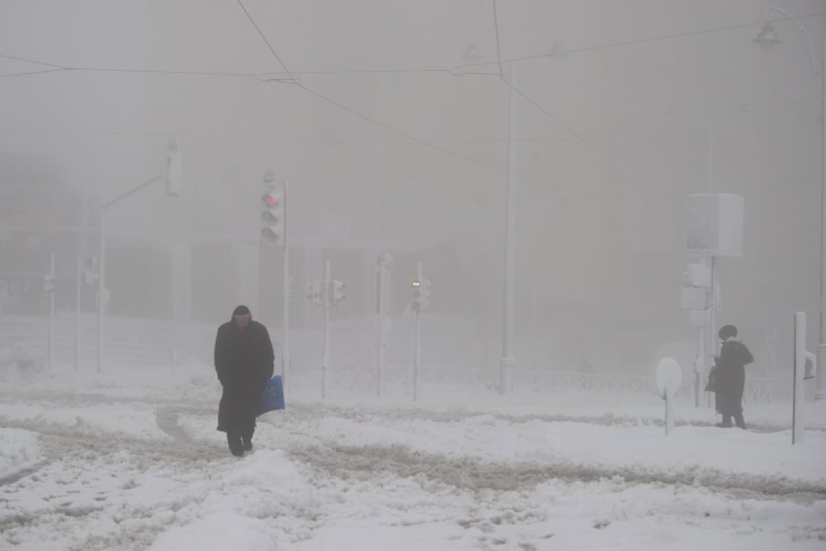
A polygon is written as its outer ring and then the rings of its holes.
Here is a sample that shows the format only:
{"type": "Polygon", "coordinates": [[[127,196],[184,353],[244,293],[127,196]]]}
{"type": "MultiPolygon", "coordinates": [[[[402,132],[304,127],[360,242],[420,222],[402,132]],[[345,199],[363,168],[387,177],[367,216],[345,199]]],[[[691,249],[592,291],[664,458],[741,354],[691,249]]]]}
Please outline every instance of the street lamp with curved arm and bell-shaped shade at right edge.
{"type": "MultiPolygon", "coordinates": [[[[809,50],[809,57],[812,60],[812,71],[814,74],[819,74],[821,78],[820,99],[822,102],[821,111],[821,126],[823,129],[823,141],[821,147],[821,172],[820,172],[820,186],[821,186],[821,211],[820,211],[820,330],[819,330],[819,344],[818,344],[818,363],[819,366],[826,366],[826,36],[824,36],[823,46],[821,48],[820,68],[818,68],[817,60],[814,55],[814,45],[809,38],[809,33],[806,32],[805,26],[800,23],[794,16],[780,7],[767,7],[765,12],[766,24],[762,26],[761,31],[757,37],[752,40],[760,47],[769,52],[775,46],[781,43],[781,40],[774,32],[772,23],[772,13],[778,13],[785,17],[795,28],[800,41],[809,50]]],[[[821,367],[817,373],[817,387],[814,392],[815,400],[824,399],[824,369],[821,367]]]]}

